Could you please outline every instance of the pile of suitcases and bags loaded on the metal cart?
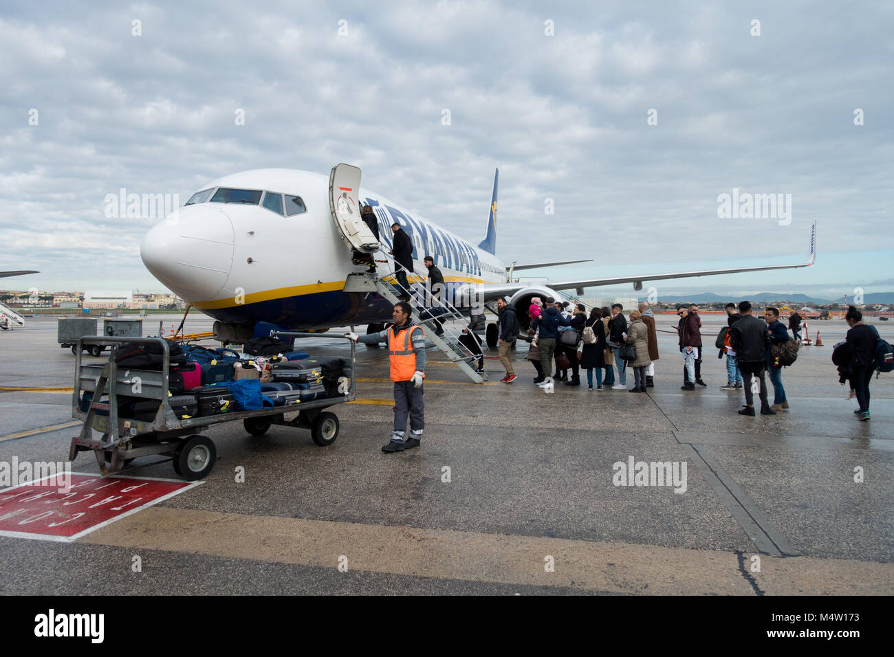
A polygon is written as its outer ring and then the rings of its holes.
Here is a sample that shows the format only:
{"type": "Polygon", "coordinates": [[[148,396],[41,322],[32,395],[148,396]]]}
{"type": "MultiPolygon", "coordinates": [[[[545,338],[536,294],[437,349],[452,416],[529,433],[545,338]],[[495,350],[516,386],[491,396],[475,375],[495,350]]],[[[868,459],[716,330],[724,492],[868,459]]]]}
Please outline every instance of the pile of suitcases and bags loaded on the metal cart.
{"type": "MultiPolygon", "coordinates": [[[[309,358],[307,352],[273,338],[252,341],[251,350],[208,349],[168,341],[171,369],[168,403],[181,419],[237,410],[257,410],[338,397],[350,388],[350,368],[343,358],[309,358]],[[274,349],[290,350],[274,352],[274,349]],[[263,352],[266,355],[253,355],[263,352]]],[[[246,344],[249,347],[249,344],[246,344]]],[[[115,360],[119,368],[160,370],[157,342],[127,343],[115,360]]],[[[152,421],[158,401],[120,397],[124,417],[152,421]]]]}

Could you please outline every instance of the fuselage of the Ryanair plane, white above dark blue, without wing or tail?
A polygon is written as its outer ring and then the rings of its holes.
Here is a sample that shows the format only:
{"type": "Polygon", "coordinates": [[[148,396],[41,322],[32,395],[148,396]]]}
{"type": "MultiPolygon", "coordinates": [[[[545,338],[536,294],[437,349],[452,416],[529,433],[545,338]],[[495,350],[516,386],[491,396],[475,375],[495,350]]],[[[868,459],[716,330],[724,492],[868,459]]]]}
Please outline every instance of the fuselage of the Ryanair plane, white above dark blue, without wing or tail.
{"type": "MultiPolygon", "coordinates": [[[[348,274],[364,267],[352,264],[350,248],[333,222],[325,176],[258,169],[225,176],[199,191],[204,190],[212,191],[203,202],[181,207],[153,227],[140,246],[149,271],[193,307],[227,323],[265,321],[296,329],[391,319],[386,299],[343,291],[348,274]],[[257,204],[244,198],[213,201],[226,196],[218,193],[222,189],[266,194],[257,204]],[[275,205],[280,194],[285,195],[286,213],[290,200],[293,208],[297,203],[306,210],[281,214],[282,206],[275,205]]],[[[441,269],[448,293],[467,283],[506,280],[501,260],[468,240],[372,190],[360,188],[358,201],[372,206],[378,219],[382,250],[375,258],[387,260],[380,267],[393,267],[387,252],[392,248],[391,224],[397,222],[413,244],[409,280],[415,285],[425,284],[426,255],[441,269]]]]}

